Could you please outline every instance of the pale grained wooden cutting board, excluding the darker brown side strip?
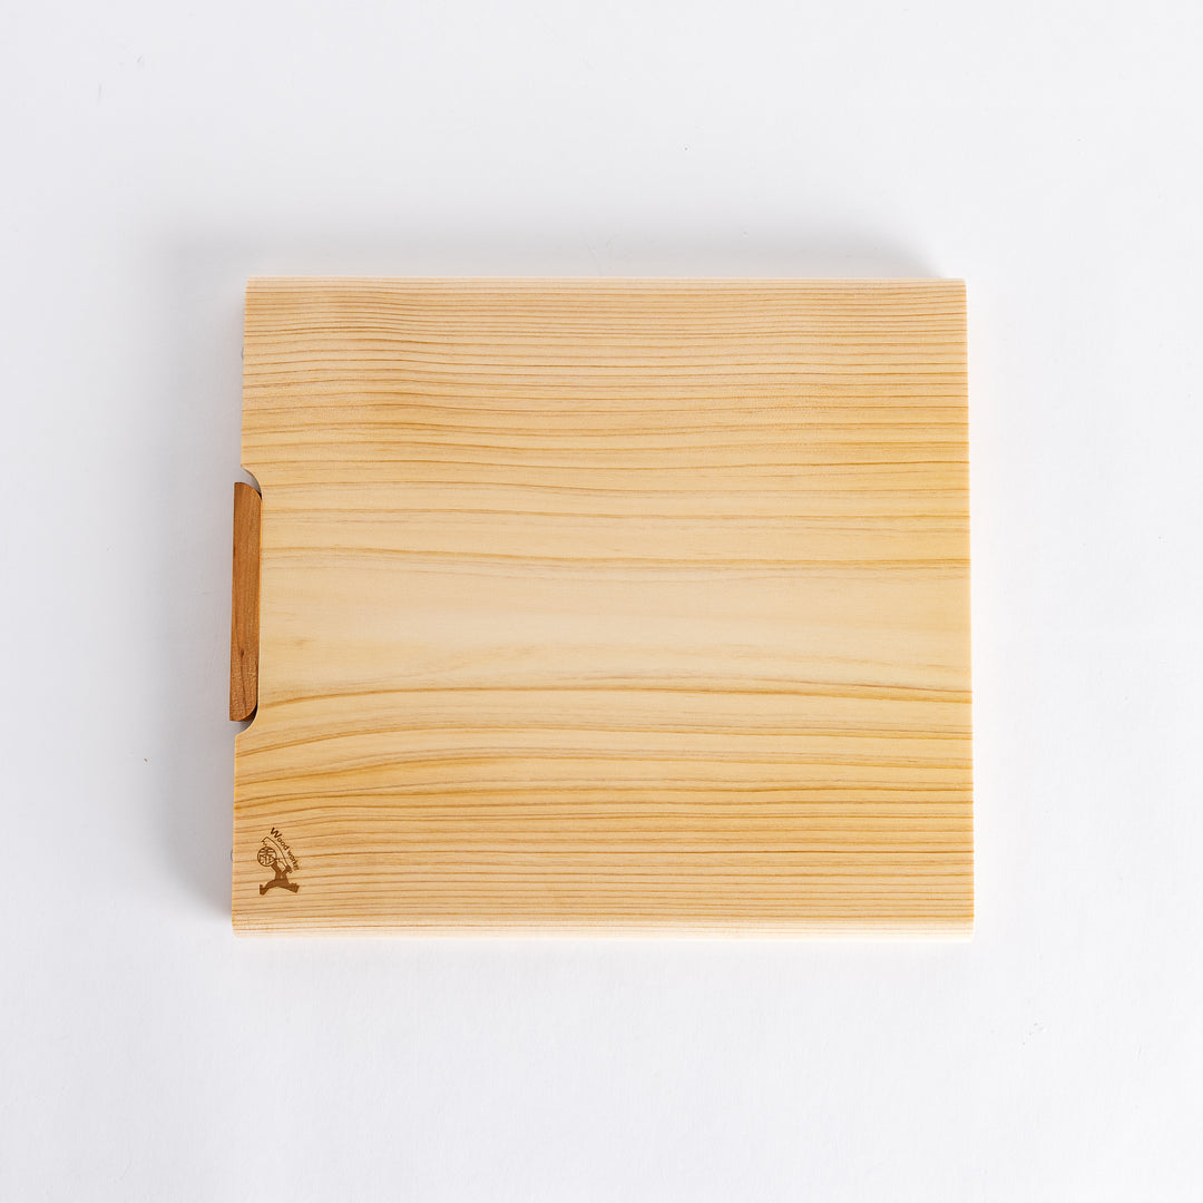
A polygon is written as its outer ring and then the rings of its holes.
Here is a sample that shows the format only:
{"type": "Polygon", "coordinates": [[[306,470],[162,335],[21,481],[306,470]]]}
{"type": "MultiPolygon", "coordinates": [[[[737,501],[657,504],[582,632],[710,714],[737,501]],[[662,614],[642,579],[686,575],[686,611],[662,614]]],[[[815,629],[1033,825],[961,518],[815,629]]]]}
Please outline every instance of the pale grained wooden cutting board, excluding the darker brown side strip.
{"type": "Polygon", "coordinates": [[[972,917],[958,282],[255,280],[241,930],[972,917]]]}

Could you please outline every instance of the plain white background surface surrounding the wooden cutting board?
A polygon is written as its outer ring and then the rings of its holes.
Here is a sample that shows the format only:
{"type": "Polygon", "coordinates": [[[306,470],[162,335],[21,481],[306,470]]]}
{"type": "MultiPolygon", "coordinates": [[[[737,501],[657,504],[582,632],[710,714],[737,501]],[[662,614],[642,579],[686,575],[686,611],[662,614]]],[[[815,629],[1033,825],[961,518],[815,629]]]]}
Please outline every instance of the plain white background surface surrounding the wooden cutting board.
{"type": "Polygon", "coordinates": [[[1201,42],[5,5],[0,1198],[1199,1198],[1201,42]],[[964,277],[972,942],[236,941],[257,273],[964,277]]]}

